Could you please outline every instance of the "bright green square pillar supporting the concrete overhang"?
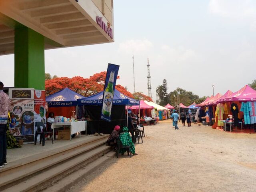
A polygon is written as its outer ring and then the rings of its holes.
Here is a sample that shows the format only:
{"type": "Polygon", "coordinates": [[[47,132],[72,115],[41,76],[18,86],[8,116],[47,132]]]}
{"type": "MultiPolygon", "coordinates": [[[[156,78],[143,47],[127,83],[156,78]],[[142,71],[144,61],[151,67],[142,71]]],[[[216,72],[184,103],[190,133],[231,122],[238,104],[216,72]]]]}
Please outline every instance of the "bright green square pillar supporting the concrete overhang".
{"type": "Polygon", "coordinates": [[[14,86],[44,90],[44,36],[27,27],[15,29],[14,86]]]}

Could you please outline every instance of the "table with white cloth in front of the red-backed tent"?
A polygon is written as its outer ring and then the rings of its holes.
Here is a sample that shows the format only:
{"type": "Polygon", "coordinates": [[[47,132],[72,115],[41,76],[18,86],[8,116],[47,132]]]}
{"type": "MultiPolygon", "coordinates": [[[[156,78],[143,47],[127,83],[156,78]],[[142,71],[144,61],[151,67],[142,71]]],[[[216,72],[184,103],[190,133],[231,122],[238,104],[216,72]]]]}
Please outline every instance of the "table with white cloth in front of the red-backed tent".
{"type": "Polygon", "coordinates": [[[87,131],[86,130],[86,121],[72,121],[72,122],[56,122],[52,123],[52,131],[54,132],[54,127],[59,126],[70,126],[70,140],[71,135],[78,132],[78,137],[81,138],[81,131],[87,131]]]}

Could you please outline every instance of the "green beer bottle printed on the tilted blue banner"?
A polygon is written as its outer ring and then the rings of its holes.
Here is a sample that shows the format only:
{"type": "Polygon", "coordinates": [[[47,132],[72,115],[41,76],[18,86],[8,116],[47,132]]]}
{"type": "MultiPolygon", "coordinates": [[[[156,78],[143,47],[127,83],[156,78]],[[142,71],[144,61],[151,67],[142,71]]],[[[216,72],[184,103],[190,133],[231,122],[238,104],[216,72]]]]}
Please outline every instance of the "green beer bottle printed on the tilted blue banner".
{"type": "Polygon", "coordinates": [[[111,108],[112,108],[112,101],[114,97],[114,71],[110,72],[110,77],[108,80],[108,86],[105,89],[104,92],[104,100],[103,100],[103,107],[102,107],[102,115],[106,118],[110,117],[111,115],[111,108]]]}

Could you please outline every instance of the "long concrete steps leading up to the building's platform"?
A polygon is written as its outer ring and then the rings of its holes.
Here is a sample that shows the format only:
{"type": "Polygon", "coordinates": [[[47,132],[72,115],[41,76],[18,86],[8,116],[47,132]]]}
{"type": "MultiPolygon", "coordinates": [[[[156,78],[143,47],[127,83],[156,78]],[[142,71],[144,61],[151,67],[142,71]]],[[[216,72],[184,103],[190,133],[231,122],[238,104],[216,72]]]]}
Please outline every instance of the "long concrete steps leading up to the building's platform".
{"type": "MultiPolygon", "coordinates": [[[[71,144],[10,163],[0,172],[0,191],[41,191],[65,176],[84,168],[110,151],[106,146],[108,136],[92,137],[89,140],[71,144]],[[27,161],[26,161],[27,160],[27,161]]],[[[107,157],[107,156],[106,156],[107,157]]]]}

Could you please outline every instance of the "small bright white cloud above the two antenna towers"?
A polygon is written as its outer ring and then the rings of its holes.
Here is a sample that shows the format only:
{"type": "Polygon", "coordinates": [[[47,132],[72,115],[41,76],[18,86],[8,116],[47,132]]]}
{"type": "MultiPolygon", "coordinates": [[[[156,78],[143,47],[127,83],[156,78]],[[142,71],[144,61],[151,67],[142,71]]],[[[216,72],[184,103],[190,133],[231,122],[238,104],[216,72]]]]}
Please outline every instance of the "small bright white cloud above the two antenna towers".
{"type": "Polygon", "coordinates": [[[143,40],[126,40],[119,44],[119,52],[126,54],[140,54],[148,52],[153,47],[153,43],[148,39],[143,40]]]}

